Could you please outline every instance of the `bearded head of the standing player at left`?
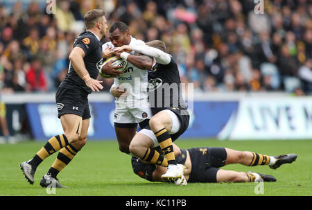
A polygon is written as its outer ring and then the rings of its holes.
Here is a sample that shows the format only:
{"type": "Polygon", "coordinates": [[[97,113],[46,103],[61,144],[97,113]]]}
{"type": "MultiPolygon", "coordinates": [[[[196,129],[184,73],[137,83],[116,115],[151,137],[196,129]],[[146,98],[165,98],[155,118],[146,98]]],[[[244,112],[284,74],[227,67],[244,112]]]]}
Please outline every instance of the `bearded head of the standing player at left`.
{"type": "Polygon", "coordinates": [[[85,14],[85,28],[87,30],[95,29],[105,37],[107,32],[107,24],[105,12],[103,10],[90,10],[85,14]]]}

